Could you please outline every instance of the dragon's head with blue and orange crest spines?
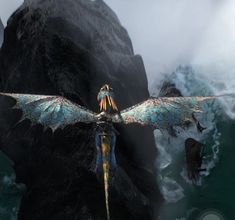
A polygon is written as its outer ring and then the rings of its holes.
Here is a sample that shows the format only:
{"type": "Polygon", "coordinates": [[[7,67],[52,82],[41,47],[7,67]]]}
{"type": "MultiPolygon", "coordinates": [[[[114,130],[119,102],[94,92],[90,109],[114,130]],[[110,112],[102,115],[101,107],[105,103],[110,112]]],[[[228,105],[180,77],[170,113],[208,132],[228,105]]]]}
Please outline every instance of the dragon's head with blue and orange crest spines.
{"type": "Polygon", "coordinates": [[[113,88],[109,85],[105,84],[101,87],[97,96],[97,100],[99,102],[100,111],[118,111],[114,98],[113,88]]]}

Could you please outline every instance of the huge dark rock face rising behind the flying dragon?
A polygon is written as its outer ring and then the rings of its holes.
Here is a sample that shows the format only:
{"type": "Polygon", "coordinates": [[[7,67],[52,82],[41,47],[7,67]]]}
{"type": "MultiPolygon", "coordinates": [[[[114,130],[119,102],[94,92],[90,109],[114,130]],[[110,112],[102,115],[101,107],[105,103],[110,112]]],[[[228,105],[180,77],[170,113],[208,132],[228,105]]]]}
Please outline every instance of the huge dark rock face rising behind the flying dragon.
{"type": "MultiPolygon", "coordinates": [[[[105,83],[114,88],[120,109],[149,96],[142,59],[133,54],[126,30],[103,1],[25,1],[5,29],[0,83],[1,91],[60,94],[93,111],[105,83]]],[[[20,113],[9,112],[11,100],[1,103],[2,150],[14,161],[17,182],[27,187],[18,220],[105,219],[102,181],[92,171],[93,125],[52,134],[24,121],[6,135],[20,113]]],[[[156,219],[162,197],[152,130],[117,129],[120,168],[111,180],[111,219],[156,219]]]]}

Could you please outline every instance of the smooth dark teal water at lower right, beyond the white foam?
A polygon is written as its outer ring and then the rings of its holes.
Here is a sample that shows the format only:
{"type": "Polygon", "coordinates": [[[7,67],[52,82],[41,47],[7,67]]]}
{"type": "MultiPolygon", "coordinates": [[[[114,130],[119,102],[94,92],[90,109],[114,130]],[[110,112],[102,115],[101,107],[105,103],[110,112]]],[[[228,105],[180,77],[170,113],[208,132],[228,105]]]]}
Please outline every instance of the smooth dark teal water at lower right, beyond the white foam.
{"type": "Polygon", "coordinates": [[[164,205],[161,220],[197,220],[207,210],[216,210],[226,220],[235,219],[235,122],[227,119],[217,126],[221,131],[221,147],[216,167],[203,179],[201,186],[176,178],[184,188],[185,197],[164,205]]]}

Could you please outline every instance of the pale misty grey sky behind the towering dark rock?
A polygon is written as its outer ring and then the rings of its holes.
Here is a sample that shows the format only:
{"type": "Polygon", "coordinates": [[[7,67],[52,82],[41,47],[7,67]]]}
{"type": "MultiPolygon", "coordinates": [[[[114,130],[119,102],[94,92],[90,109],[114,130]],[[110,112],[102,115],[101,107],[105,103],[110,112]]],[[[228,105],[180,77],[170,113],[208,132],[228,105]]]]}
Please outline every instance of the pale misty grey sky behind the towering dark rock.
{"type": "MultiPolygon", "coordinates": [[[[88,0],[89,1],[89,0],[88,0]]],[[[3,23],[23,2],[0,0],[3,23]]],[[[235,75],[234,0],[105,0],[141,54],[149,81],[180,64],[235,75]]],[[[151,82],[150,82],[151,83],[151,82]]]]}

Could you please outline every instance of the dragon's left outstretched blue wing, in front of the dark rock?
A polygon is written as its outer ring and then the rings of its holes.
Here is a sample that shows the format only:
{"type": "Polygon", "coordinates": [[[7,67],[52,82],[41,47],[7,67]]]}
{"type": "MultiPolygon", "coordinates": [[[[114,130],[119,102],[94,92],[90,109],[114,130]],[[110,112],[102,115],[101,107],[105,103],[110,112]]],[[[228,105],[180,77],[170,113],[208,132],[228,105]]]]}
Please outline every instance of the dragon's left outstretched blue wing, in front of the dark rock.
{"type": "Polygon", "coordinates": [[[23,112],[22,120],[30,119],[33,124],[40,123],[53,131],[77,122],[97,121],[96,113],[60,96],[0,93],[16,100],[13,108],[23,112]]]}

